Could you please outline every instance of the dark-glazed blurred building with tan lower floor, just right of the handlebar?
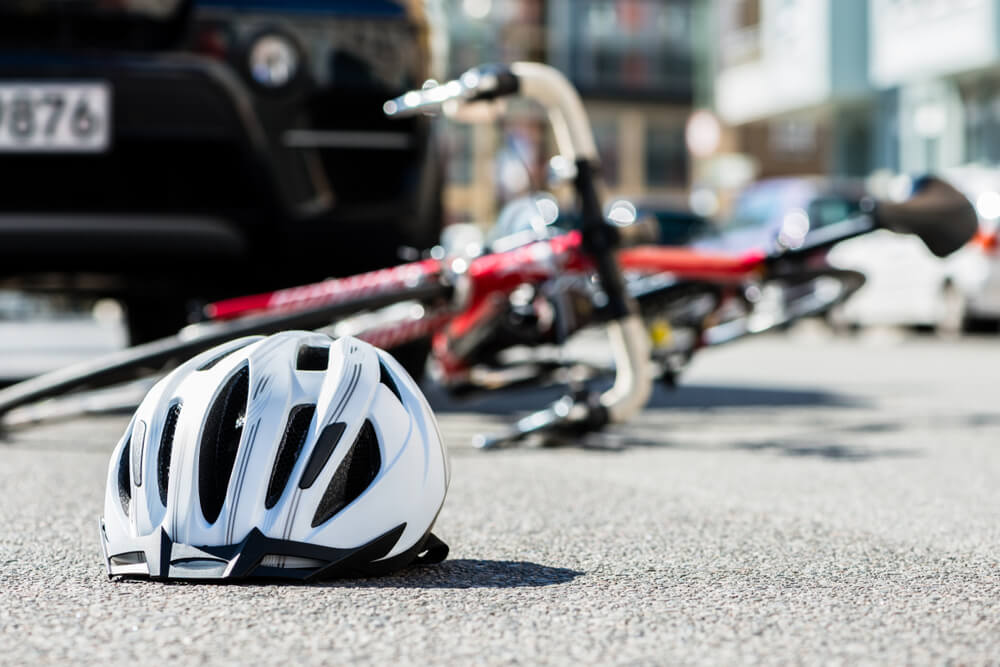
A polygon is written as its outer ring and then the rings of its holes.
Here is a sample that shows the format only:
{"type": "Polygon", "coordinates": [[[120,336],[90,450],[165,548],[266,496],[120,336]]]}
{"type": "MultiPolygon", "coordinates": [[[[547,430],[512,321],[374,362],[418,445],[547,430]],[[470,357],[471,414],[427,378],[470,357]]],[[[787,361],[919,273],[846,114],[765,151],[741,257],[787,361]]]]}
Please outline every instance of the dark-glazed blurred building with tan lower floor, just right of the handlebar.
{"type": "Polygon", "coordinates": [[[580,90],[605,179],[628,195],[686,190],[690,0],[549,0],[549,62],[580,90]]]}

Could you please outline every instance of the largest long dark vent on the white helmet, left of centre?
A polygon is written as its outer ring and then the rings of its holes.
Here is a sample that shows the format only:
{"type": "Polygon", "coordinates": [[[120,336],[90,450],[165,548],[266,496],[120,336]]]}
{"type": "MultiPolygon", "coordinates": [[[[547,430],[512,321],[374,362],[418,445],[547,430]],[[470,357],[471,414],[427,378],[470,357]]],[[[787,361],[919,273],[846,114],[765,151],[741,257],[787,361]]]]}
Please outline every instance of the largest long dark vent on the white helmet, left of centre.
{"type": "Polygon", "coordinates": [[[208,411],[198,455],[198,495],[205,520],[215,523],[226,499],[247,412],[250,369],[232,375],[208,411]]]}

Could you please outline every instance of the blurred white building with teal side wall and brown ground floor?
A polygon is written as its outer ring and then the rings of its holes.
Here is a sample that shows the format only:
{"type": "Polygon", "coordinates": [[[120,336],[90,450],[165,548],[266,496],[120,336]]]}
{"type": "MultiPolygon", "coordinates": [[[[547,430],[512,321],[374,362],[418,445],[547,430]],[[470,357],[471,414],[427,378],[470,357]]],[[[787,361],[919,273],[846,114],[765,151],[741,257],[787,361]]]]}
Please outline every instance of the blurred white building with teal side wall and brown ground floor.
{"type": "Polygon", "coordinates": [[[712,9],[714,107],[757,175],[867,171],[865,0],[717,0],[712,9]]]}

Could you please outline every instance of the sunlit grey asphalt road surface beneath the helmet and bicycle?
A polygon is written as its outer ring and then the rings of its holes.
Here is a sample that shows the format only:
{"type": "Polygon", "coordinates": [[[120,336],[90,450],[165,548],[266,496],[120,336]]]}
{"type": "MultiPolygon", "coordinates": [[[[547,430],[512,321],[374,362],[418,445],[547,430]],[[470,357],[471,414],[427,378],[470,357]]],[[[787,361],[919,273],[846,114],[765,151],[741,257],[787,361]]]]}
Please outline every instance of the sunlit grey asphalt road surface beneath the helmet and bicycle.
{"type": "Polygon", "coordinates": [[[762,338],[587,447],[468,447],[543,398],[436,398],[451,558],[312,586],[109,582],[97,516],[126,418],[11,434],[0,662],[1000,657],[1000,340],[762,338]]]}

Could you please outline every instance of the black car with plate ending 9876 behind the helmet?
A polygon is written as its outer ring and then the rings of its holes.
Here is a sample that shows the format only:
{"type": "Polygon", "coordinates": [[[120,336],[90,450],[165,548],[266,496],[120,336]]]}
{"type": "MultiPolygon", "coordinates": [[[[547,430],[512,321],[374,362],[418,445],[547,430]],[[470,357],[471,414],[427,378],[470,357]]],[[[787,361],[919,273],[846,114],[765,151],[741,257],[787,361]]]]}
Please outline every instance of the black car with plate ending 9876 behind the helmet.
{"type": "Polygon", "coordinates": [[[382,114],[432,73],[428,6],[3,0],[0,284],[121,298],[137,342],[433,245],[432,127],[382,114]]]}

